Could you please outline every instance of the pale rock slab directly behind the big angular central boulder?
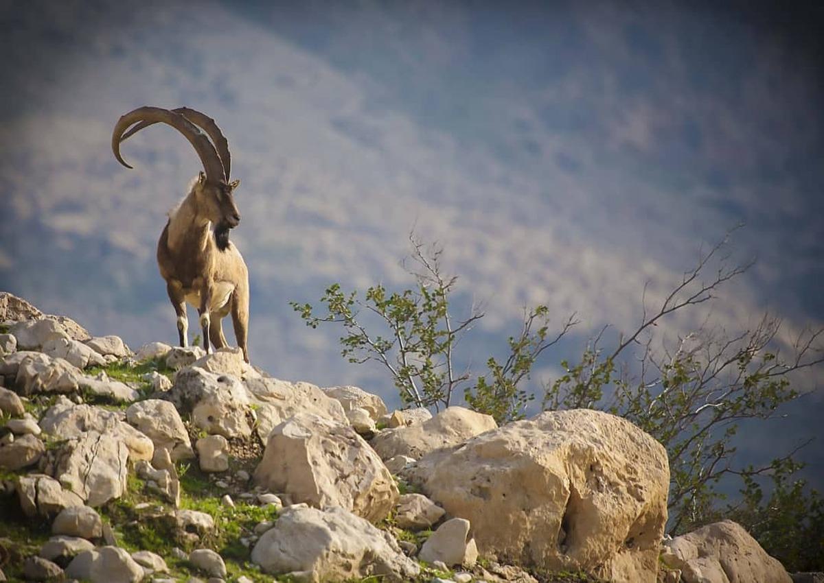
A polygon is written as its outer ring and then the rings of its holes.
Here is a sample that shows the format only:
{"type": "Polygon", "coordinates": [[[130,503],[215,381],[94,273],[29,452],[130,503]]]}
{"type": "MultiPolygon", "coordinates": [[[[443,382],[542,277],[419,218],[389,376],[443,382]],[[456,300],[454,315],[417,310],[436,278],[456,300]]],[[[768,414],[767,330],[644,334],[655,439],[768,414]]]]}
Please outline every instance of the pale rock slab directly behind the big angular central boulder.
{"type": "Polygon", "coordinates": [[[246,380],[250,400],[257,407],[257,434],[265,443],[274,426],[296,413],[314,413],[349,425],[343,406],[316,385],[271,377],[246,380]]]}

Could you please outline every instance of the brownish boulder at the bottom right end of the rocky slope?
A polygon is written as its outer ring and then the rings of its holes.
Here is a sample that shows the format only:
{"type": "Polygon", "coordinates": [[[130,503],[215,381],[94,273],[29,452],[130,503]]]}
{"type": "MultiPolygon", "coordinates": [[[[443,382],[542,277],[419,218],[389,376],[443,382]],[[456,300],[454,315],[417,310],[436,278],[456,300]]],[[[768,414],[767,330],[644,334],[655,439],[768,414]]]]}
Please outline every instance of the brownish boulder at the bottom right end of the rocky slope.
{"type": "Polygon", "coordinates": [[[661,558],[667,567],[681,569],[681,581],[685,583],[793,581],[781,563],[732,520],[665,541],[661,558]]]}

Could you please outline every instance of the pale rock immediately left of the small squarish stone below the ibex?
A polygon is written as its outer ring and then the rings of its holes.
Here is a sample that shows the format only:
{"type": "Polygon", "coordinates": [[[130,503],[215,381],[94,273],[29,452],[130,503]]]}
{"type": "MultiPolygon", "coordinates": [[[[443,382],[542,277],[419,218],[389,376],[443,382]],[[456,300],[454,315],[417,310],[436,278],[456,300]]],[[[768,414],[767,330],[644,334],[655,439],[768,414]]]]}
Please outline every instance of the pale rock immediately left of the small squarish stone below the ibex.
{"type": "Polygon", "coordinates": [[[175,406],[162,399],[147,399],[126,409],[126,419],[154,443],[155,449],[169,450],[171,459],[191,458],[192,442],[175,406]]]}

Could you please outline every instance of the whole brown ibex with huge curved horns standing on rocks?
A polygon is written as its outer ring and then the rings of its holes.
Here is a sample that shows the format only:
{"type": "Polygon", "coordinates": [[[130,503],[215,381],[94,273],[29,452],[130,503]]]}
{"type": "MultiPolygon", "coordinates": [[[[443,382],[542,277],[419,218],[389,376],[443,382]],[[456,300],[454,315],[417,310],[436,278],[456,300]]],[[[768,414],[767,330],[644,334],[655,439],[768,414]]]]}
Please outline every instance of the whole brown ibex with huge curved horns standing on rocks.
{"type": "Polygon", "coordinates": [[[157,242],[157,265],[177,314],[180,346],[189,343],[186,302],[198,309],[206,352],[210,340],[216,348],[227,346],[221,319],[232,312],[237,344],[248,362],[249,273],[240,251],[229,240],[229,230],[241,222],[232,197],[241,181],[229,182],[231,158],[226,138],[214,120],[199,111],[139,107],[121,117],[112,133],[111,149],[120,164],[132,167],[120,156],[120,142],[158,122],[171,125],[189,140],[205,170],[169,212],[157,242]]]}

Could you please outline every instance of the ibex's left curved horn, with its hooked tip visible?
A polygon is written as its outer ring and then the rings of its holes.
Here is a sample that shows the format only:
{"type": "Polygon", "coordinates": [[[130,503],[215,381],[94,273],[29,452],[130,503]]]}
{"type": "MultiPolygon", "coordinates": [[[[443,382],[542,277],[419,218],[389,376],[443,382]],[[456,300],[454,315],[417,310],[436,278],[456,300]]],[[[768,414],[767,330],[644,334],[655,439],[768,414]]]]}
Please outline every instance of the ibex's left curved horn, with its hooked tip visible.
{"type": "Polygon", "coordinates": [[[128,114],[123,115],[117,120],[115,131],[111,135],[111,150],[114,152],[115,158],[117,158],[120,164],[126,166],[126,168],[132,167],[126,164],[123,156],[120,156],[120,142],[123,139],[123,134],[126,129],[138,122],[151,122],[147,125],[163,122],[164,124],[171,125],[172,128],[182,133],[184,137],[189,140],[190,144],[194,146],[194,151],[198,152],[200,161],[204,165],[204,170],[206,170],[206,178],[213,183],[225,181],[223,165],[218,157],[218,152],[215,151],[212,142],[209,142],[206,135],[182,114],[164,110],[160,107],[138,107],[137,110],[129,111],[128,114]]]}

